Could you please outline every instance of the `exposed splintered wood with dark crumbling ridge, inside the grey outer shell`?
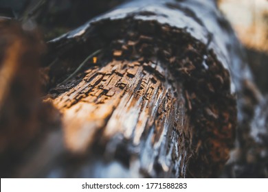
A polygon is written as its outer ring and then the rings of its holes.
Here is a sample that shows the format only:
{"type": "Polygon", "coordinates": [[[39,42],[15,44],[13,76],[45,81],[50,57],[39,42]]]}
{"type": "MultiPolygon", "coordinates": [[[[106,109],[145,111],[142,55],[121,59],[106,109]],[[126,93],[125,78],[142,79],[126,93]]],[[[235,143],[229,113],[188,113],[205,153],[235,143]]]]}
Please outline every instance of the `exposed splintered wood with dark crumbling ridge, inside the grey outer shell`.
{"type": "MultiPolygon", "coordinates": [[[[102,49],[99,64],[87,64],[49,96],[63,114],[69,152],[90,154],[84,158],[92,177],[108,171],[94,168],[103,160],[135,177],[216,176],[233,145],[236,102],[215,53],[184,29],[156,21],[104,20],[92,32],[80,54],[102,49]],[[107,34],[113,24],[118,31],[107,34]],[[95,39],[103,47],[87,47],[95,39]]],[[[76,71],[73,51],[58,66],[76,71]]]]}

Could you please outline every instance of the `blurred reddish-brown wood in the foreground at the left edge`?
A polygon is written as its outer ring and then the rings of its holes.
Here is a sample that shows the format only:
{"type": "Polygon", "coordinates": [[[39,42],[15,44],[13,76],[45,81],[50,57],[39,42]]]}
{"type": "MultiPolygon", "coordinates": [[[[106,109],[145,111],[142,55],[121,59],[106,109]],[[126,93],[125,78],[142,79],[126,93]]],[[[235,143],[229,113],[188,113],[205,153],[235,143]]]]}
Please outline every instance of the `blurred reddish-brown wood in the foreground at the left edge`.
{"type": "Polygon", "coordinates": [[[14,176],[16,165],[28,160],[27,152],[56,125],[57,111],[40,98],[38,70],[43,51],[36,33],[0,19],[1,176],[14,176]]]}

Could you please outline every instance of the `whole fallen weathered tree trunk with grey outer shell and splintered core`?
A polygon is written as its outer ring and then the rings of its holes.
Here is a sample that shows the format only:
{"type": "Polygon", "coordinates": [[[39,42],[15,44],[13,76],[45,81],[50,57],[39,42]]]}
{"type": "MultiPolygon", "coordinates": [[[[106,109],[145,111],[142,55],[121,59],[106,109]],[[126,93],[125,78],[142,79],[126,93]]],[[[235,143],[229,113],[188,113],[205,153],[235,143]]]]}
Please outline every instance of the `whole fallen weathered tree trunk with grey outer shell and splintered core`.
{"type": "Polygon", "coordinates": [[[47,63],[45,101],[62,113],[64,144],[23,165],[49,169],[16,176],[219,176],[234,86],[242,93],[251,77],[214,1],[131,1],[49,42],[47,63]]]}

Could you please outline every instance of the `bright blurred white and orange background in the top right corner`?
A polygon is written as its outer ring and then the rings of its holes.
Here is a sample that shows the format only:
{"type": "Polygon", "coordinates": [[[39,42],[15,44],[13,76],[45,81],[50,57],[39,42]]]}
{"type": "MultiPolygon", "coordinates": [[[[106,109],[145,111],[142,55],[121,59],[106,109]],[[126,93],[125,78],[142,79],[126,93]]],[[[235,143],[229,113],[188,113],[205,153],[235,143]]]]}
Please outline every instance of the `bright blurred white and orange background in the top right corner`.
{"type": "Polygon", "coordinates": [[[219,8],[246,48],[256,84],[268,92],[268,1],[219,0],[219,8]]]}

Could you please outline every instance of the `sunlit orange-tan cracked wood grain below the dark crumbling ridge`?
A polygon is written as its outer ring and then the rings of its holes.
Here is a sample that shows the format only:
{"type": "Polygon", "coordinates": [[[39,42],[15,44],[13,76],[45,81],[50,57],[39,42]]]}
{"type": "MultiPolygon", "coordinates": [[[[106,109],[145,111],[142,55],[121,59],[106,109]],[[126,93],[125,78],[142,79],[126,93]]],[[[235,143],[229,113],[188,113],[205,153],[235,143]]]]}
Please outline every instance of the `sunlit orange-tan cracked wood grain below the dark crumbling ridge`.
{"type": "MultiPolygon", "coordinates": [[[[79,84],[54,99],[56,108],[63,112],[65,143],[72,152],[85,153],[96,142],[115,145],[113,138],[120,138],[121,142],[130,141],[142,156],[148,156],[141,162],[147,172],[147,164],[162,153],[167,156],[164,162],[158,160],[162,169],[168,171],[172,158],[184,166],[187,149],[175,143],[190,138],[191,132],[181,84],[159,80],[153,71],[148,71],[149,66],[161,69],[165,75],[169,73],[160,62],[113,60],[104,67],[88,70],[79,84]]],[[[114,156],[115,152],[106,153],[114,156]]],[[[183,176],[183,169],[176,171],[183,176]]]]}

